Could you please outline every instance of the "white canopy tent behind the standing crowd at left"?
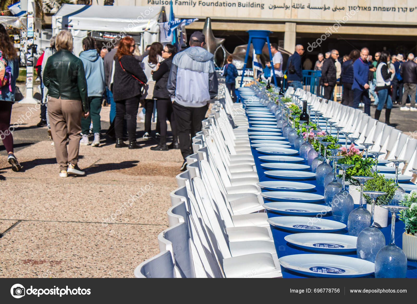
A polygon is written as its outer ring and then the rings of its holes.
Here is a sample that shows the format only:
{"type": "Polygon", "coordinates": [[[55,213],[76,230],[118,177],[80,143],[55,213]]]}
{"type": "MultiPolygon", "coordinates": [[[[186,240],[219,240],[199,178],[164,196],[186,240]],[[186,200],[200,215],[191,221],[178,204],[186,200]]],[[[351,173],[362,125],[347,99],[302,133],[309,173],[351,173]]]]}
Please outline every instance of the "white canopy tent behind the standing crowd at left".
{"type": "MultiPolygon", "coordinates": [[[[74,54],[82,51],[88,31],[133,35],[141,33],[139,51],[159,41],[160,22],[166,22],[163,6],[110,6],[64,4],[52,17],[53,35],[70,30],[74,37],[74,54]]],[[[114,39],[113,39],[114,41],[114,39]]]]}

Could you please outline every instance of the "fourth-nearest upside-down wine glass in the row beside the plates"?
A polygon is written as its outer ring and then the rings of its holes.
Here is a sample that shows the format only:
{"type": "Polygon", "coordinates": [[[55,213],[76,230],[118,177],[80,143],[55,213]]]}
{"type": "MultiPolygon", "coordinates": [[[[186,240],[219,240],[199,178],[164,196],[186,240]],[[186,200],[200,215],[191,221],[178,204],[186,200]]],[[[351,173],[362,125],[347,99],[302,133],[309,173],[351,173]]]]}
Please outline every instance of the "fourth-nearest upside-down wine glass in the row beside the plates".
{"type": "Polygon", "coordinates": [[[354,165],[349,163],[340,163],[337,164],[338,167],[342,168],[343,176],[342,176],[342,190],[337,193],[332,199],[332,214],[333,219],[339,222],[346,222],[349,214],[353,210],[353,198],[346,191],[346,187],[344,186],[345,176],[346,176],[346,169],[353,167],[354,165]]]}

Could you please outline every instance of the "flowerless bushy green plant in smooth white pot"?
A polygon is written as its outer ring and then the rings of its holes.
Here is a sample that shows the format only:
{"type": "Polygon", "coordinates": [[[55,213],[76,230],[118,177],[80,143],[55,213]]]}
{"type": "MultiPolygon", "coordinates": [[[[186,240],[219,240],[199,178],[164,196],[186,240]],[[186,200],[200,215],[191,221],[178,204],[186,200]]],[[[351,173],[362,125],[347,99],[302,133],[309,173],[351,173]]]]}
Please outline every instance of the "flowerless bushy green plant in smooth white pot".
{"type": "MultiPolygon", "coordinates": [[[[394,179],[385,178],[383,174],[374,172],[371,176],[373,179],[370,179],[365,183],[364,191],[382,191],[387,193],[385,195],[378,196],[377,200],[375,201],[374,223],[376,227],[387,227],[388,209],[382,208],[380,205],[387,205],[392,200],[398,185],[395,183],[394,179]]],[[[367,201],[371,201],[371,198],[369,198],[367,195],[364,195],[364,198],[367,201]]],[[[367,204],[366,208],[369,212],[371,212],[371,204],[367,204]]]]}

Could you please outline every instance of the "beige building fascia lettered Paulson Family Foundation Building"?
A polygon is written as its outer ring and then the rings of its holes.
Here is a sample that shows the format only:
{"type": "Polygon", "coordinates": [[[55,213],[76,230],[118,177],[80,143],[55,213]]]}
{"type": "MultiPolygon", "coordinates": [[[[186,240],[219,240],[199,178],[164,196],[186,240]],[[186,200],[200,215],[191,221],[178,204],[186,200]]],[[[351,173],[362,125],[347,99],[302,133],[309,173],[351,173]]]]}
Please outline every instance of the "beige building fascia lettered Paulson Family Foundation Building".
{"type": "MultiPolygon", "coordinates": [[[[116,0],[115,5],[130,0],[116,0]]],[[[169,0],[139,0],[136,5],[169,5],[169,0]]],[[[275,19],[288,21],[417,23],[417,0],[173,0],[176,16],[275,19]],[[344,19],[343,19],[344,18],[344,19]]]]}

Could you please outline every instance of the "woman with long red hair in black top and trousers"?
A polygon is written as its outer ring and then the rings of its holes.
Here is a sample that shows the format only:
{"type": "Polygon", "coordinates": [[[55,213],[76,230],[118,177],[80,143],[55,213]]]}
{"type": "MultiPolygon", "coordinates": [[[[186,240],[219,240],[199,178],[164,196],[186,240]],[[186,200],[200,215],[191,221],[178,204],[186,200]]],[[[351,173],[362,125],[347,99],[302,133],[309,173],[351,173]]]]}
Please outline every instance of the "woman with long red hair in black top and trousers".
{"type": "Polygon", "coordinates": [[[136,143],[136,116],[138,115],[141,87],[148,79],[139,62],[133,57],[135,40],[126,36],[120,40],[114,56],[113,99],[116,103],[116,148],[126,147],[123,142],[123,120],[126,119],[129,149],[140,148],[136,143]]]}

